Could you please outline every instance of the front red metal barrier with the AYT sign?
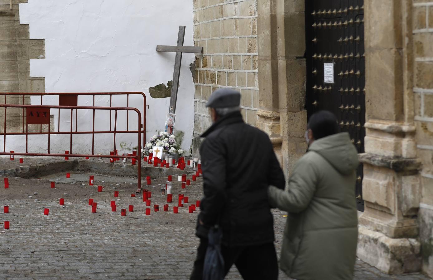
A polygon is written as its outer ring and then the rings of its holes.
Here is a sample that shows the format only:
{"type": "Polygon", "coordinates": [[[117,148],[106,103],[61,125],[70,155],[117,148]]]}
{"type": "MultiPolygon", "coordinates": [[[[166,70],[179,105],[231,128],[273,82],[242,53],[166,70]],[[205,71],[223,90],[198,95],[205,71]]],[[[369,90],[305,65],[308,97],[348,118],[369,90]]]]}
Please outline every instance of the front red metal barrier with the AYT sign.
{"type": "MultiPolygon", "coordinates": [[[[3,152],[0,155],[14,155],[14,156],[61,156],[65,157],[64,153],[50,153],[50,136],[56,134],[70,134],[70,146],[69,146],[69,154],[68,157],[102,157],[102,158],[127,158],[127,159],[136,159],[138,163],[138,184],[137,184],[137,192],[141,191],[141,149],[142,149],[142,115],[140,110],[137,108],[125,108],[125,107],[94,107],[94,106],[55,106],[55,105],[5,105],[0,104],[0,108],[4,108],[4,131],[3,133],[3,152]],[[25,124],[25,132],[7,132],[6,129],[6,117],[7,117],[7,108],[23,108],[23,115],[26,116],[26,124],[25,124]],[[51,109],[70,109],[71,110],[71,130],[68,132],[50,131],[50,110],[51,109]],[[72,129],[72,112],[73,110],[93,110],[93,120],[92,120],[92,131],[77,131],[77,127],[75,127],[75,131],[72,129]],[[114,119],[114,130],[110,131],[95,131],[95,111],[114,111],[115,119],[114,119]],[[116,130],[117,124],[117,111],[135,111],[138,115],[138,127],[137,130],[116,130]],[[28,132],[29,124],[40,124],[41,129],[39,132],[28,132]],[[42,132],[42,125],[48,125],[48,133],[42,132]],[[114,142],[114,150],[116,150],[116,133],[137,133],[138,134],[138,150],[136,156],[123,156],[123,155],[100,155],[94,154],[94,138],[95,134],[113,134],[113,142],[114,142]],[[91,134],[92,135],[92,153],[91,154],[73,154],[72,153],[72,135],[74,134],[91,134]],[[6,135],[26,135],[26,152],[17,152],[14,153],[6,153],[6,135]],[[28,152],[28,137],[29,135],[48,135],[48,153],[29,153],[28,152]]],[[[110,114],[111,115],[111,114],[110,114]]],[[[129,114],[128,114],[129,116],[129,114]]],[[[111,122],[110,122],[111,124],[111,122]]],[[[23,124],[24,126],[24,124],[23,124]]],[[[24,127],[23,127],[24,129],[24,127]]]]}

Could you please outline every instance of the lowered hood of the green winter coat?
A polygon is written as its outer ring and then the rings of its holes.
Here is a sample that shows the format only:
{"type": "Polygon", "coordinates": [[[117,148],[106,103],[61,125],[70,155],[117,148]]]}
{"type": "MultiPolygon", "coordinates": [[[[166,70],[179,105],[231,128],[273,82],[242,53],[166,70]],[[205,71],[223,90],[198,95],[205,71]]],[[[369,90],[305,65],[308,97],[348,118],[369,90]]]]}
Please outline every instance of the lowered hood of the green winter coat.
{"type": "Polygon", "coordinates": [[[358,153],[347,132],[315,140],[308,150],[323,156],[343,175],[352,173],[359,165],[358,153]]]}

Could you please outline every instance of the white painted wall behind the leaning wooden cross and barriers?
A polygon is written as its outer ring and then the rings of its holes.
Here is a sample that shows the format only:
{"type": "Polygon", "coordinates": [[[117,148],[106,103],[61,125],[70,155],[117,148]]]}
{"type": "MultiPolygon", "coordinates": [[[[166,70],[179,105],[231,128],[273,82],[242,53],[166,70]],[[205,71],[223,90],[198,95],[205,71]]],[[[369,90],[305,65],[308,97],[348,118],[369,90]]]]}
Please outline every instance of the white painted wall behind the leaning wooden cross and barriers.
{"type": "MultiPolygon", "coordinates": [[[[194,44],[193,1],[29,0],[19,4],[19,10],[20,22],[30,25],[30,38],[45,39],[46,59],[31,60],[30,73],[45,77],[46,92],[142,91],[150,106],[147,138],[164,129],[170,99],[153,99],[148,88],[172,80],[174,53],[157,53],[155,48],[176,45],[179,25],[187,26],[184,45],[194,44]]],[[[193,61],[194,54],[184,54],[176,110],[175,129],[184,131],[182,148],[186,151],[194,127],[194,83],[189,70],[193,61]]],[[[130,105],[142,110],[141,100],[139,95],[131,96],[130,105]]],[[[39,97],[32,98],[32,104],[39,102],[39,97]]],[[[109,98],[99,97],[96,105],[107,106],[108,102],[109,98]]],[[[44,104],[57,105],[58,100],[44,97],[44,104]]],[[[79,98],[78,105],[91,105],[91,99],[79,98]]],[[[126,106],[126,98],[114,98],[113,106],[126,106]]],[[[57,111],[51,114],[57,130],[57,111]]],[[[61,131],[70,128],[68,114],[61,113],[61,131]]],[[[130,114],[131,129],[137,126],[135,115],[130,114]]],[[[79,112],[78,130],[91,130],[91,118],[91,111],[79,112]]],[[[125,129],[125,114],[119,113],[118,118],[117,129],[125,129]]],[[[108,114],[99,113],[96,125],[108,128],[108,114]]],[[[33,136],[29,152],[46,150],[46,139],[33,136]]],[[[96,153],[113,150],[112,137],[100,135],[96,140],[96,153]]],[[[118,135],[117,145],[122,141],[135,146],[137,137],[118,135]]],[[[11,148],[22,150],[23,143],[21,137],[11,148]]],[[[91,137],[74,136],[73,143],[73,153],[89,153],[91,137]]],[[[52,153],[69,150],[69,136],[52,136],[51,147],[52,153]]]]}

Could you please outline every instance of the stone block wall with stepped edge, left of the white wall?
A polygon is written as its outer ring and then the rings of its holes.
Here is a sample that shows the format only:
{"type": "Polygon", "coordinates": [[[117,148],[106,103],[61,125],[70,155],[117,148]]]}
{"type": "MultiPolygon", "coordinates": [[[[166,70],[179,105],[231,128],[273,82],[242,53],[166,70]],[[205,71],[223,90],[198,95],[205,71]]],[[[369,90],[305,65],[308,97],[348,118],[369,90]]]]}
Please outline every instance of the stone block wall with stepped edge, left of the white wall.
{"type": "MultiPolygon", "coordinates": [[[[19,3],[27,0],[0,0],[0,92],[45,92],[45,78],[30,76],[30,59],[45,58],[45,41],[29,39],[29,25],[19,23],[19,3]]],[[[0,94],[0,104],[5,103],[0,94]]],[[[29,97],[24,102],[29,104],[29,97]]],[[[8,96],[6,104],[23,104],[22,97],[8,96]]],[[[22,110],[7,110],[7,131],[20,131],[22,110]]],[[[4,109],[0,109],[3,120],[4,109]]],[[[3,131],[3,121],[0,121],[3,131]]]]}

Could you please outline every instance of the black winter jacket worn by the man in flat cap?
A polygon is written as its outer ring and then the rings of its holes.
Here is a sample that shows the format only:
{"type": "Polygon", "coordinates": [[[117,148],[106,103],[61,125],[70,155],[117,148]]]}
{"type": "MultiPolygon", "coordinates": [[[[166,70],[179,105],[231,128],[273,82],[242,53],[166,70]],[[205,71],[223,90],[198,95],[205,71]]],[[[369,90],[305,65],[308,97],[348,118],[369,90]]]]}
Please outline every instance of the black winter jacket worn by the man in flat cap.
{"type": "Polygon", "coordinates": [[[274,241],[268,186],[284,189],[284,174],[271,141],[263,131],[245,124],[240,112],[228,114],[203,135],[200,148],[204,198],[197,235],[207,238],[210,226],[223,229],[227,246],[274,241]]]}

